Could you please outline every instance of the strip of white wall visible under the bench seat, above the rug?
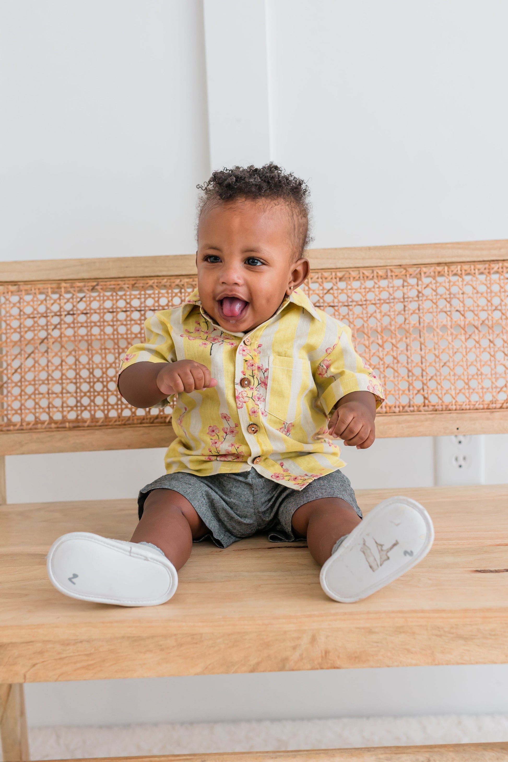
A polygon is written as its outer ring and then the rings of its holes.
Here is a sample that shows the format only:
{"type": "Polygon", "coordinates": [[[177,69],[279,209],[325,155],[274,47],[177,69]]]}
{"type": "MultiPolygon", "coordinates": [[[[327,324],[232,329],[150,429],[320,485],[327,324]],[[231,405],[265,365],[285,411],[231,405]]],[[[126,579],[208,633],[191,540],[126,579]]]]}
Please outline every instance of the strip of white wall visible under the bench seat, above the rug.
{"type": "Polygon", "coordinates": [[[508,664],[34,683],[31,725],[508,712],[508,664]]]}

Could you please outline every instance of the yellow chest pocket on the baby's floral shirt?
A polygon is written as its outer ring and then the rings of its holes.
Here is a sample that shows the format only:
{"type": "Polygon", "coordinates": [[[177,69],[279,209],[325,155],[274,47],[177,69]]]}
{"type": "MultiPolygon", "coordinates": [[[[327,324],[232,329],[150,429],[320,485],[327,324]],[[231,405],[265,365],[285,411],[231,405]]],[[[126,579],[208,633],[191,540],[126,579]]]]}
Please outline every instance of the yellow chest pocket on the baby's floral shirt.
{"type": "Polygon", "coordinates": [[[303,360],[272,355],[268,361],[268,386],[265,410],[280,421],[292,423],[299,418],[303,360]]]}

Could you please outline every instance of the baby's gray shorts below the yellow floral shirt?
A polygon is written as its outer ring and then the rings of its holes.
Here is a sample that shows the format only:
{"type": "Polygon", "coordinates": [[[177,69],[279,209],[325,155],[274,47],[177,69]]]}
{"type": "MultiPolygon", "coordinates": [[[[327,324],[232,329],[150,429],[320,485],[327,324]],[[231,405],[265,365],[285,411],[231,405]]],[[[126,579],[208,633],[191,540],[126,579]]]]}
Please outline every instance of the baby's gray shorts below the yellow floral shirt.
{"type": "Polygon", "coordinates": [[[184,495],[209,528],[206,537],[219,548],[227,548],[257,532],[266,532],[273,543],[299,539],[292,531],[292,514],[301,505],[320,498],[341,498],[362,518],[350,480],[341,471],[321,476],[300,491],[272,482],[256,469],[213,476],[165,474],[139,492],[139,518],[146,498],[154,489],[174,489],[184,495]]]}

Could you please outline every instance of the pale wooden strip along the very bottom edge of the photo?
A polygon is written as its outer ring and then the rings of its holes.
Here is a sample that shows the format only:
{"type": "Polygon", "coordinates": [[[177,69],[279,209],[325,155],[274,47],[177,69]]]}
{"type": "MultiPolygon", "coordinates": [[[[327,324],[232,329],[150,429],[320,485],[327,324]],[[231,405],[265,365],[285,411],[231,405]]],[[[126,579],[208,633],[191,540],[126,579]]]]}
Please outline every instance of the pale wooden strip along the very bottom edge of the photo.
{"type": "MultiPolygon", "coordinates": [[[[172,754],[168,757],[114,757],[117,762],[506,762],[508,744],[385,746],[308,751],[244,751],[229,754],[172,754]]],[[[68,760],[70,762],[70,760],[68,760]]],[[[81,760],[92,762],[92,760],[81,760]]],[[[93,762],[111,762],[111,758],[93,762]]]]}

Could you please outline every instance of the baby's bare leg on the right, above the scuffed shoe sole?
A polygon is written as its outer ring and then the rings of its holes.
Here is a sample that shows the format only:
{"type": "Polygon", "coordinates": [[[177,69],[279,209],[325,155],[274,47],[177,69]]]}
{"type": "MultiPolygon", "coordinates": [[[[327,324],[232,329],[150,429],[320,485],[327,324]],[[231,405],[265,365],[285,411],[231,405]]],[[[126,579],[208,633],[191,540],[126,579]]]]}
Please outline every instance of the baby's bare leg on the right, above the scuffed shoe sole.
{"type": "Polygon", "coordinates": [[[307,537],[312,558],[320,566],[330,558],[337,539],[349,534],[361,519],[349,503],[340,498],[321,498],[301,505],[292,516],[292,528],[307,537]]]}

